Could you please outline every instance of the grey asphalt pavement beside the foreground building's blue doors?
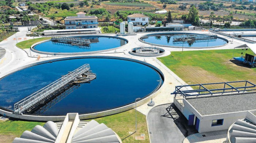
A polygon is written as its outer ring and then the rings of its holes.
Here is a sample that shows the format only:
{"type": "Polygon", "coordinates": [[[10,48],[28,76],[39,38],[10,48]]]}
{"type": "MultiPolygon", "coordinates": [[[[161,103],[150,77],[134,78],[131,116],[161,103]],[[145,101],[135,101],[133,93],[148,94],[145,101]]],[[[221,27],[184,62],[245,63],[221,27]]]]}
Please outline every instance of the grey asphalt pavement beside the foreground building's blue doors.
{"type": "Polygon", "coordinates": [[[187,126],[187,119],[174,104],[151,109],[147,123],[151,143],[182,143],[185,137],[197,133],[193,126],[187,126]]]}

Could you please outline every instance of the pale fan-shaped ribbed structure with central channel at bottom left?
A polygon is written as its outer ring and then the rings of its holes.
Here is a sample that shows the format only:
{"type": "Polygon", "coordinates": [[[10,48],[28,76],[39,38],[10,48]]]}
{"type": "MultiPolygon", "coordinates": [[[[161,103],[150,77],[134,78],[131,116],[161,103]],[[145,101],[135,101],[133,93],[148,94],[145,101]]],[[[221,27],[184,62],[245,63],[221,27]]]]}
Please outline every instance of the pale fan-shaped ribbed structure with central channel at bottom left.
{"type": "Polygon", "coordinates": [[[78,113],[68,113],[64,122],[48,121],[43,127],[37,125],[12,143],[121,143],[118,135],[105,124],[95,120],[84,123],[82,121],[81,127],[78,113]],[[61,124],[60,130],[57,124],[61,124]]]}

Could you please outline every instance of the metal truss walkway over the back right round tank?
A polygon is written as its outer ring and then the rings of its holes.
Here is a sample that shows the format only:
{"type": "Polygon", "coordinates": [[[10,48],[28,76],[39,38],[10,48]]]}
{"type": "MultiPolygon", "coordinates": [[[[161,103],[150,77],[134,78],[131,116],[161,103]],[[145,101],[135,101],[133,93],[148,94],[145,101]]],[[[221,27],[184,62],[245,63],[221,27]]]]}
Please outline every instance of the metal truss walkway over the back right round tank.
{"type": "Polygon", "coordinates": [[[208,41],[216,41],[216,40],[217,40],[216,34],[184,34],[184,35],[173,36],[173,44],[208,42],[208,41]]]}

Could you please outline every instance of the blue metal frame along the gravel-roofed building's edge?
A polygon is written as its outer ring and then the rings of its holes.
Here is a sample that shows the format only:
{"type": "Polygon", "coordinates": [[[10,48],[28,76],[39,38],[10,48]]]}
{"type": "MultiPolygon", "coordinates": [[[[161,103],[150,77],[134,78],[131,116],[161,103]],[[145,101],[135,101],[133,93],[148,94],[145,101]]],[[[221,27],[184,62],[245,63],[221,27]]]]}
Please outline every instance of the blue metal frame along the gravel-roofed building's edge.
{"type": "Polygon", "coordinates": [[[256,84],[253,84],[247,80],[242,81],[234,81],[234,82],[219,82],[219,83],[203,83],[203,84],[191,84],[191,85],[184,85],[184,86],[176,86],[175,91],[172,93],[176,97],[177,94],[183,95],[184,98],[189,96],[200,96],[200,95],[219,95],[225,93],[240,93],[240,92],[252,92],[256,91],[256,84]],[[244,83],[244,86],[232,86],[232,83],[244,83]],[[215,88],[215,89],[208,89],[205,86],[207,85],[217,85],[223,84],[223,88],[215,88]],[[188,90],[187,87],[196,87],[199,86],[199,89],[195,90],[188,90]],[[183,88],[183,89],[182,89],[183,88]],[[202,93],[203,92],[203,93],[202,93]]]}

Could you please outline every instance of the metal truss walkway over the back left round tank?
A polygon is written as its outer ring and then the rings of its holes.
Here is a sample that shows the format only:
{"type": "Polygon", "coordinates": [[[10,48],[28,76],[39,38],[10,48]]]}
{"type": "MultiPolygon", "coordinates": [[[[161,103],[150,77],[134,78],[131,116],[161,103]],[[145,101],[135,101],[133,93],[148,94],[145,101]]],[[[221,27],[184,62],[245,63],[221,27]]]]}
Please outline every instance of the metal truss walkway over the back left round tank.
{"type": "Polygon", "coordinates": [[[76,37],[52,37],[51,41],[68,43],[72,45],[90,45],[91,41],[89,39],[82,39],[76,37]]]}

